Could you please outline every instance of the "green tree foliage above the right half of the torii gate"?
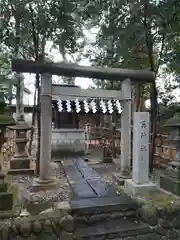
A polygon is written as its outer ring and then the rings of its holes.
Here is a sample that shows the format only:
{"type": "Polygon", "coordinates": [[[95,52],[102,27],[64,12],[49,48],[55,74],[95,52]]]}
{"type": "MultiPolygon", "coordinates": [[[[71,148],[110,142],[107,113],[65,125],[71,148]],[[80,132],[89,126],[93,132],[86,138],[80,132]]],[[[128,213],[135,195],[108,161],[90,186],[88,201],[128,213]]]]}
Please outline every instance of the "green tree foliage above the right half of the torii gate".
{"type": "MultiPolygon", "coordinates": [[[[172,47],[174,44],[178,52],[180,45],[177,38],[180,29],[179,23],[177,24],[180,22],[179,5],[179,2],[174,3],[173,0],[89,1],[84,6],[85,12],[88,12],[85,19],[91,23],[87,27],[96,27],[99,32],[96,43],[87,56],[94,65],[145,68],[155,71],[159,78],[162,77],[162,72],[159,72],[162,64],[169,62],[171,73],[174,72],[172,67],[175,66],[175,50],[172,52],[172,47]],[[92,5],[96,6],[93,17],[92,5]]],[[[167,66],[163,71],[167,72],[167,66]]],[[[118,84],[109,81],[94,80],[94,83],[97,87],[107,89],[120,88],[118,84]]],[[[174,84],[168,82],[168,86],[166,93],[172,93],[174,84]]],[[[142,88],[143,95],[150,97],[150,92],[150,87],[142,88]]]]}

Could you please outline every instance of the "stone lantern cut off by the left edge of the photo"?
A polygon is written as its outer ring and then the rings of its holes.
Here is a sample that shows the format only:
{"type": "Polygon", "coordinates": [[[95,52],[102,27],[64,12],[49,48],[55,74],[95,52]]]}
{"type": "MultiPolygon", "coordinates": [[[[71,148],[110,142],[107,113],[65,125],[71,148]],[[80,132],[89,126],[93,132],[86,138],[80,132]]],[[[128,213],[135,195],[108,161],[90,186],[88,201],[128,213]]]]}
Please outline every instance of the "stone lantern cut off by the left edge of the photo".
{"type": "MultiPolygon", "coordinates": [[[[7,126],[14,125],[13,117],[8,113],[5,104],[0,102],[0,151],[6,141],[5,130],[7,126]]],[[[2,152],[0,153],[0,218],[9,216],[13,208],[13,195],[7,192],[8,183],[6,174],[2,171],[2,152]]]]}

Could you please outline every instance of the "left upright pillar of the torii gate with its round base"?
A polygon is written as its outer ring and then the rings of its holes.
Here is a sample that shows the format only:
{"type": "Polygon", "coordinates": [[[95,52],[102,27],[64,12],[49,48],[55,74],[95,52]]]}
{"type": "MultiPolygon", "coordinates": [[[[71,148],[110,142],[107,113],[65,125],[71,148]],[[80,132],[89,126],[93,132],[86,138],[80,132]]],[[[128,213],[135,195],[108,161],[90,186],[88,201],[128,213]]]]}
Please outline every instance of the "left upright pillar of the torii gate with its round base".
{"type": "Polygon", "coordinates": [[[40,175],[34,179],[34,190],[48,190],[58,186],[51,172],[51,139],[52,139],[52,76],[42,74],[41,78],[41,142],[40,142],[40,175]]]}

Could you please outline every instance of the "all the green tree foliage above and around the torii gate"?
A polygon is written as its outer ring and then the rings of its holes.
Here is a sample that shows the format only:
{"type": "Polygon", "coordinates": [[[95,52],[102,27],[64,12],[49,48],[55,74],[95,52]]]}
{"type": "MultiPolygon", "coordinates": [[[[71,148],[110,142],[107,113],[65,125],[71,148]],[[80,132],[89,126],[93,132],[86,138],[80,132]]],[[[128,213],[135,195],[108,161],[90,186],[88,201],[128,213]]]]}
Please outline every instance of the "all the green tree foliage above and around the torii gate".
{"type": "MultiPolygon", "coordinates": [[[[86,55],[93,65],[151,69],[161,78],[158,70],[165,63],[169,72],[179,74],[178,1],[1,0],[0,7],[0,48],[7,54],[4,66],[8,71],[0,74],[0,82],[11,78],[9,63],[17,53],[21,58],[45,59],[49,43],[65,61],[67,55],[82,53],[83,29],[92,27],[99,29],[86,55]]],[[[64,78],[63,82],[74,84],[74,79],[64,78]]],[[[97,87],[121,88],[117,82],[94,82],[97,87]]],[[[160,98],[166,102],[164,94],[173,90],[174,84],[168,82],[168,89],[159,92],[160,98]]],[[[152,89],[145,86],[141,92],[146,99],[152,89]]]]}

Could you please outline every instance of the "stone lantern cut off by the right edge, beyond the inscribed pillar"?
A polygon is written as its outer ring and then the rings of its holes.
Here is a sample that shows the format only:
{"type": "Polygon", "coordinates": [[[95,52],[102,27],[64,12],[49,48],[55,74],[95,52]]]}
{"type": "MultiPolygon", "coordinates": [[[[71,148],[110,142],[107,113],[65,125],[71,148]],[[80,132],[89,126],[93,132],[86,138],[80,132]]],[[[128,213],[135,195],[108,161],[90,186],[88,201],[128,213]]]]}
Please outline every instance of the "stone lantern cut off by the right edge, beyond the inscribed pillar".
{"type": "Polygon", "coordinates": [[[170,130],[169,140],[176,147],[176,159],[160,175],[160,187],[180,196],[180,113],[169,119],[164,127],[170,130]]]}

